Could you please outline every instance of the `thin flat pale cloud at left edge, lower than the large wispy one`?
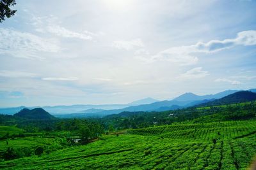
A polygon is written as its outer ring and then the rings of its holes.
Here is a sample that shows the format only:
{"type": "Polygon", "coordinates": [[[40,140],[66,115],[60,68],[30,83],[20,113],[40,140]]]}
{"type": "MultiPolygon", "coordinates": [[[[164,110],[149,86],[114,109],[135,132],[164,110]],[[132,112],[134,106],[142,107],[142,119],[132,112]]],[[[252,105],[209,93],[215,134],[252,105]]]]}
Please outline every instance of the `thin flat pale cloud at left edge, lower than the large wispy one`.
{"type": "Polygon", "coordinates": [[[8,77],[8,78],[35,78],[36,74],[22,72],[22,71],[8,71],[8,70],[1,70],[0,76],[8,77]]]}

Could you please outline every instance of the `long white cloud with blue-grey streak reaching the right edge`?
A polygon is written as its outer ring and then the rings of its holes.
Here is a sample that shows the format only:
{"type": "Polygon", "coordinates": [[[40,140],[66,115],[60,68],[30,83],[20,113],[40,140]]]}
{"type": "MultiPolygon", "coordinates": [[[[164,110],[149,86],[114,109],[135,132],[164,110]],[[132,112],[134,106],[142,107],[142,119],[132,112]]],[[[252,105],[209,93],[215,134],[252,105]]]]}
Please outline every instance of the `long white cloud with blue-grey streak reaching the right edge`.
{"type": "Polygon", "coordinates": [[[256,31],[239,32],[234,39],[211,40],[207,43],[198,42],[195,45],[175,46],[157,53],[149,60],[167,60],[180,63],[180,65],[191,65],[198,61],[198,58],[191,53],[218,52],[236,45],[256,45],[256,31]]]}

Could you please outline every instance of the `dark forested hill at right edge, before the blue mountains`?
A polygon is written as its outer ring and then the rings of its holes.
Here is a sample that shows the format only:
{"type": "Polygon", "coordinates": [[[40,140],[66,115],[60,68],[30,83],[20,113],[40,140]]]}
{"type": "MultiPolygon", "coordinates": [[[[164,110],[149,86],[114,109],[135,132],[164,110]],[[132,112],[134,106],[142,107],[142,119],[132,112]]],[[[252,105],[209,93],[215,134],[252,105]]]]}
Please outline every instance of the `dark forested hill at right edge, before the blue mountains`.
{"type": "Polygon", "coordinates": [[[218,106],[223,104],[234,104],[234,103],[243,103],[248,101],[255,101],[256,93],[250,91],[241,91],[228,96],[222,97],[221,99],[216,99],[203,104],[198,104],[197,106],[218,106]]]}

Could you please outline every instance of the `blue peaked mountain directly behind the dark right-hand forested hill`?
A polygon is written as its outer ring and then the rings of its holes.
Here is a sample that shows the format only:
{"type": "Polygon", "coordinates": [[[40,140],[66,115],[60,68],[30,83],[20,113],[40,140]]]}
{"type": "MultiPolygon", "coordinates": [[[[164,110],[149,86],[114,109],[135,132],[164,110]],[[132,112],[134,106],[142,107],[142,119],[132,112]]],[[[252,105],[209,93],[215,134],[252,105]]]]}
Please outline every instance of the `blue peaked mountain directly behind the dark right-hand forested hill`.
{"type": "Polygon", "coordinates": [[[189,92],[189,93],[182,94],[173,100],[174,101],[202,101],[205,99],[206,100],[220,99],[221,97],[228,96],[229,94],[234,94],[235,92],[238,92],[238,91],[239,90],[225,90],[225,91],[217,93],[217,94],[208,94],[208,95],[204,95],[204,96],[198,96],[196,94],[189,92]]]}

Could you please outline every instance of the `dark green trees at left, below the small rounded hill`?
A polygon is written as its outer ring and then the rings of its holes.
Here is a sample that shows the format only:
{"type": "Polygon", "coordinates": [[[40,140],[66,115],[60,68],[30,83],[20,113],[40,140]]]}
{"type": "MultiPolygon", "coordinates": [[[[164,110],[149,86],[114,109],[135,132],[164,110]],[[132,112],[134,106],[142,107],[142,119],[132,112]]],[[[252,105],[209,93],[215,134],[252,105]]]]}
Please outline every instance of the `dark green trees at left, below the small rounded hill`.
{"type": "MultiPolygon", "coordinates": [[[[54,119],[54,120],[28,120],[17,118],[11,115],[0,115],[0,125],[17,126],[28,133],[40,132],[73,132],[79,136],[83,142],[88,142],[90,139],[98,138],[104,134],[104,125],[100,120],[85,120],[85,119],[54,119]]],[[[4,136],[3,139],[24,137],[24,134],[15,134],[13,136],[4,136]]]]}

